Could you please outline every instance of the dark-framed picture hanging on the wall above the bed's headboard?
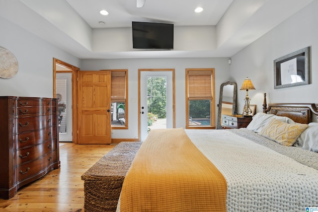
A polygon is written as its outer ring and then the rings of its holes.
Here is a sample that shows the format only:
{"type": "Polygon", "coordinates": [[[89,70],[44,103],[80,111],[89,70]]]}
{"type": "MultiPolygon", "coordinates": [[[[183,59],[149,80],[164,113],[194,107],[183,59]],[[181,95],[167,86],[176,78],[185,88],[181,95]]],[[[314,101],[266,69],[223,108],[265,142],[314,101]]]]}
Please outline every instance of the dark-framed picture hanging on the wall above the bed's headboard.
{"type": "Polygon", "coordinates": [[[310,47],[274,60],[274,88],[309,84],[310,47]]]}

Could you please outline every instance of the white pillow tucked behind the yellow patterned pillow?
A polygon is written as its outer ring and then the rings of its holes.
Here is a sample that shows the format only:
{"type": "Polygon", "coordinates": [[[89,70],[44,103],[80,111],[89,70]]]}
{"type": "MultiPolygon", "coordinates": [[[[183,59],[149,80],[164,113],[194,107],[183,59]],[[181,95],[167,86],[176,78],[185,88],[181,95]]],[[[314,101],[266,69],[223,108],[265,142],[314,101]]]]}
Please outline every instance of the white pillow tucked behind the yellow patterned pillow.
{"type": "Polygon", "coordinates": [[[252,117],[252,121],[248,124],[246,129],[254,131],[255,133],[259,133],[262,131],[264,125],[272,119],[277,119],[278,121],[288,123],[288,124],[295,124],[295,122],[285,116],[276,116],[274,114],[267,114],[267,113],[256,113],[252,117]]]}

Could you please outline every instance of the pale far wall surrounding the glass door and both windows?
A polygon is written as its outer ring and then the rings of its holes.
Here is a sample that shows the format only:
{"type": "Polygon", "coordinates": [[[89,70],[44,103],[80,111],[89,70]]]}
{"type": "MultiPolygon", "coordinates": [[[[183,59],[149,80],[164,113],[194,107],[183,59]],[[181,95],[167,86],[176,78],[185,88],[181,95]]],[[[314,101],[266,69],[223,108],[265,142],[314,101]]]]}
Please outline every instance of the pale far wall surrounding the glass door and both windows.
{"type": "MultiPolygon", "coordinates": [[[[220,86],[229,80],[230,65],[228,58],[165,58],[165,59],[112,59],[112,60],[82,60],[81,70],[128,69],[129,97],[129,129],[114,130],[112,138],[138,137],[138,69],[175,69],[175,127],[185,127],[185,69],[214,68],[215,69],[215,104],[219,103],[220,86]]],[[[216,106],[216,118],[218,108],[216,106]]]]}

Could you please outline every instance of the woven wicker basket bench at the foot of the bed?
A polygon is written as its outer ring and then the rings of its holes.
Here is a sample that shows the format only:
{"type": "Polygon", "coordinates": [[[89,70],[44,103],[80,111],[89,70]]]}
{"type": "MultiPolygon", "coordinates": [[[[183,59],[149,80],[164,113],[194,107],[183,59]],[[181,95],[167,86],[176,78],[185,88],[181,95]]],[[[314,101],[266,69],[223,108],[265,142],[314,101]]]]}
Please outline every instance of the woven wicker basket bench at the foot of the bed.
{"type": "Polygon", "coordinates": [[[120,142],[81,175],[85,212],[116,212],[124,178],[141,144],[120,142]]]}

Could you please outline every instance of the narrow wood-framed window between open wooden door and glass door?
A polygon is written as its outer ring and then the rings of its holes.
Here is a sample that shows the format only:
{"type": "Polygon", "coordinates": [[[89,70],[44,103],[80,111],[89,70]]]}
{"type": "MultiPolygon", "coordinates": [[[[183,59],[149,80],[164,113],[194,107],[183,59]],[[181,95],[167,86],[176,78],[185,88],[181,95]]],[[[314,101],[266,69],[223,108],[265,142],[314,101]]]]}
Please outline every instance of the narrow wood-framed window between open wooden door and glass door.
{"type": "Polygon", "coordinates": [[[128,70],[111,70],[111,127],[128,129],[128,70]]]}

